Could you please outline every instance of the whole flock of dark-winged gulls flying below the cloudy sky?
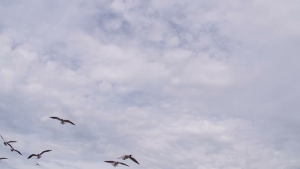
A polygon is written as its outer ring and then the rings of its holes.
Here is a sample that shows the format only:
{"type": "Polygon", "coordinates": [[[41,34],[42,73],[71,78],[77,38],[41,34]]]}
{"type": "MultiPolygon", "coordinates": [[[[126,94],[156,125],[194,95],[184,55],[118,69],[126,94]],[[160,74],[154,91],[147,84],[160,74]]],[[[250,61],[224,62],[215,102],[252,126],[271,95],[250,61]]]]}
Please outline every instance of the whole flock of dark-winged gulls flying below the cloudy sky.
{"type": "MultiPolygon", "coordinates": [[[[58,117],[50,117],[50,118],[59,120],[60,123],[61,123],[62,125],[66,124],[66,123],[70,123],[70,124],[72,124],[72,125],[75,125],[75,124],[74,124],[73,122],[71,122],[70,120],[64,120],[64,119],[60,119],[60,118],[58,118],[58,117]]],[[[20,155],[22,155],[22,153],[21,153],[20,151],[14,149],[14,148],[11,146],[11,143],[16,143],[17,141],[5,141],[4,138],[2,137],[2,135],[0,135],[0,136],[1,136],[1,138],[3,139],[3,141],[4,141],[4,143],[3,143],[4,146],[9,146],[11,152],[15,151],[15,152],[19,153],[20,155]]],[[[52,151],[52,150],[44,150],[44,151],[42,151],[42,152],[39,153],[39,154],[32,154],[32,155],[28,156],[27,159],[30,159],[30,158],[32,158],[32,157],[34,157],[34,156],[36,156],[37,159],[40,159],[42,154],[44,154],[44,153],[46,153],[46,152],[50,152],[50,151],[52,151]]],[[[22,156],[23,156],[23,155],[22,155],[22,156]]],[[[0,161],[1,161],[1,160],[4,160],[4,159],[7,159],[7,158],[0,158],[0,161]]],[[[123,159],[123,160],[130,159],[130,160],[132,160],[133,162],[135,162],[135,163],[137,163],[137,164],[140,164],[135,158],[132,157],[132,155],[124,155],[124,156],[121,156],[121,157],[119,157],[119,158],[117,158],[117,159],[123,159]]],[[[120,164],[120,165],[124,165],[124,166],[128,166],[127,164],[121,163],[121,162],[115,162],[115,161],[104,161],[104,162],[106,162],[106,163],[111,163],[113,167],[117,167],[119,164],[120,164]]],[[[36,165],[40,166],[37,162],[36,162],[36,165]]],[[[129,166],[128,166],[128,167],[129,167],[129,166]]]]}

